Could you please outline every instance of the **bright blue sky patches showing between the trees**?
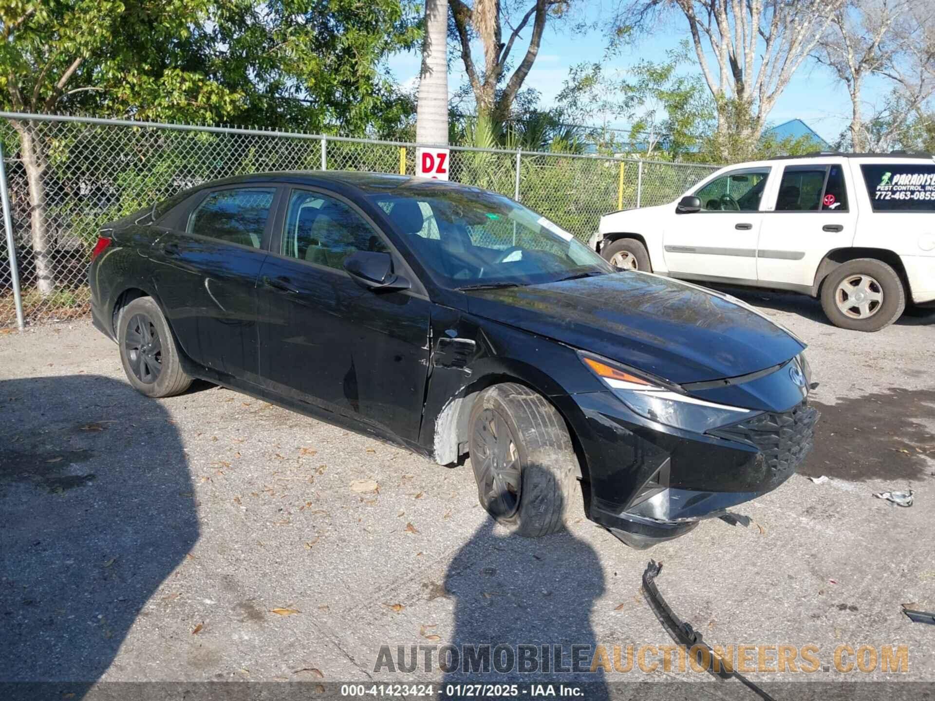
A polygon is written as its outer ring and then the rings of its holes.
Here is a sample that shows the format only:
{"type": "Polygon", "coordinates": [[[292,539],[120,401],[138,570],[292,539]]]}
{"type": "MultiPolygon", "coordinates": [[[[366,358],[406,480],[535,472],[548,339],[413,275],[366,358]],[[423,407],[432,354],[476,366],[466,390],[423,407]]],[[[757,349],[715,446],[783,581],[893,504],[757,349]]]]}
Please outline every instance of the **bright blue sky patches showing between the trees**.
{"type": "MultiPolygon", "coordinates": [[[[596,18],[592,16],[588,19],[596,18]]],[[[504,33],[506,34],[506,28],[504,33]]],[[[525,52],[529,31],[525,31],[522,37],[525,41],[517,39],[513,46],[511,57],[515,59],[514,64],[519,62],[525,52]]],[[[628,66],[637,64],[640,59],[664,61],[666,51],[676,48],[683,38],[688,38],[684,22],[678,21],[673,15],[671,21],[660,26],[653,36],[642,39],[637,46],[628,48],[614,57],[608,63],[608,67],[624,71],[628,66]]],[[[539,56],[525,80],[524,87],[535,88],[539,92],[539,107],[553,107],[555,98],[568,78],[568,69],[585,61],[601,61],[606,45],[607,35],[600,30],[570,36],[561,24],[547,24],[539,47],[539,56]]],[[[475,63],[482,62],[480,44],[474,48],[474,57],[475,63]]],[[[398,53],[390,58],[390,69],[396,79],[406,87],[415,87],[418,85],[421,60],[419,52],[398,53]]],[[[712,69],[716,70],[714,61],[709,61],[712,69]]],[[[694,71],[697,67],[698,64],[692,64],[690,70],[694,71]]],[[[448,76],[449,91],[454,93],[458,85],[467,82],[464,64],[458,58],[457,62],[452,63],[448,76]]],[[[870,79],[864,91],[865,101],[872,103],[882,99],[885,90],[882,79],[870,79]]],[[[806,60],[770,111],[768,121],[770,126],[774,126],[800,119],[812,127],[818,136],[834,143],[850,123],[850,114],[851,98],[841,80],[827,68],[815,64],[812,60],[806,60]]],[[[609,126],[626,127],[627,124],[620,120],[611,120],[609,126]]]]}

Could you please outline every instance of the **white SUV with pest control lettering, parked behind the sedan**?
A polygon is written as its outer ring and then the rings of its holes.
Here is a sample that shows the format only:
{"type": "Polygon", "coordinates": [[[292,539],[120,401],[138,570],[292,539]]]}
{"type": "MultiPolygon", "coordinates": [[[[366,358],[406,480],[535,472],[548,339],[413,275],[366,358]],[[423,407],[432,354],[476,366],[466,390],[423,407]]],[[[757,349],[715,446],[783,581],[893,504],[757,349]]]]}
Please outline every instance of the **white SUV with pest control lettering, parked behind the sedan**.
{"type": "Polygon", "coordinates": [[[605,214],[595,247],[619,267],[811,294],[835,325],[879,331],[935,303],[935,159],[731,165],[677,203],[605,214]]]}

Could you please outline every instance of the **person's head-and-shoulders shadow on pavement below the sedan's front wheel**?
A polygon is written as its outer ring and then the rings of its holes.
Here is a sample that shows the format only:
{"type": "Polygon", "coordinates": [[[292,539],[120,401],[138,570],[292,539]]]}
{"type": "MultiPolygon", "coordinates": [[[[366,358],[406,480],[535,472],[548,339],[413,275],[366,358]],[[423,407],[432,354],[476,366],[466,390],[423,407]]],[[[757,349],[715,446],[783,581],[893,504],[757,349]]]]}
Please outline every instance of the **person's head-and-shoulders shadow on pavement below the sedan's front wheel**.
{"type": "Polygon", "coordinates": [[[459,664],[443,685],[586,682],[589,700],[609,697],[603,674],[590,671],[597,645],[591,615],[604,571],[583,540],[567,530],[540,538],[504,533],[488,517],[455,554],[445,590],[455,600],[450,642],[459,664]],[[472,646],[479,654],[489,646],[489,672],[472,670],[465,659],[472,646]],[[579,646],[585,652],[576,665],[579,646]]]}

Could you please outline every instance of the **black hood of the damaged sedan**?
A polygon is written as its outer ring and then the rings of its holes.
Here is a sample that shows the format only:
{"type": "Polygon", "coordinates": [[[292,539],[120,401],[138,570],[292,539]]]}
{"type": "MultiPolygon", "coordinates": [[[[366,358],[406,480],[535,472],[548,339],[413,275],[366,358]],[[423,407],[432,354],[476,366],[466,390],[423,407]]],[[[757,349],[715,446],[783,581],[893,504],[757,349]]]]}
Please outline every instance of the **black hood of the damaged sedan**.
{"type": "Polygon", "coordinates": [[[648,273],[476,291],[468,309],[679,384],[756,372],[805,348],[724,294],[648,273]]]}

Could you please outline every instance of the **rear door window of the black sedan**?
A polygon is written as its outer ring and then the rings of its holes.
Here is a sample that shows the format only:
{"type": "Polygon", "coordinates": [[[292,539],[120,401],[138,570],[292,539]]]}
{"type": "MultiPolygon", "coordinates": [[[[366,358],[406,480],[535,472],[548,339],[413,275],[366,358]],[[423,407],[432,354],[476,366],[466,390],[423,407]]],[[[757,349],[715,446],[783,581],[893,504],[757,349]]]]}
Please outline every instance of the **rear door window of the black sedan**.
{"type": "Polygon", "coordinates": [[[260,248],[276,188],[236,188],[210,193],[188,218],[189,234],[260,248]]]}

